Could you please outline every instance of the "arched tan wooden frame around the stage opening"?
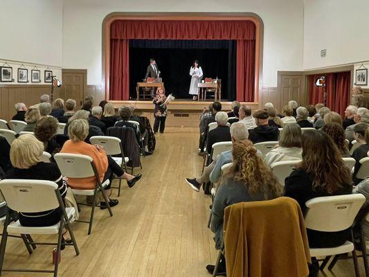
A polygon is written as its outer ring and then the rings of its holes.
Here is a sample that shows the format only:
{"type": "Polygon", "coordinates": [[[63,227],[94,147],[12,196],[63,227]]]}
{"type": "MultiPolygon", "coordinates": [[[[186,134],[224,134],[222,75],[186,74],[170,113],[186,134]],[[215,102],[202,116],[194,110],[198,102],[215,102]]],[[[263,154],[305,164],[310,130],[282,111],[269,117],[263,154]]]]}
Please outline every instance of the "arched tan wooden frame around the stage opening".
{"type": "Polygon", "coordinates": [[[264,24],[253,12],[112,12],[102,21],[102,87],[105,100],[109,100],[110,78],[110,26],[116,20],[250,20],[256,26],[255,32],[255,89],[254,102],[259,100],[262,84],[262,49],[264,24]]]}

